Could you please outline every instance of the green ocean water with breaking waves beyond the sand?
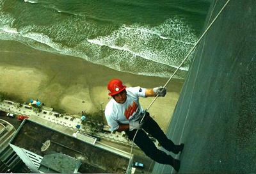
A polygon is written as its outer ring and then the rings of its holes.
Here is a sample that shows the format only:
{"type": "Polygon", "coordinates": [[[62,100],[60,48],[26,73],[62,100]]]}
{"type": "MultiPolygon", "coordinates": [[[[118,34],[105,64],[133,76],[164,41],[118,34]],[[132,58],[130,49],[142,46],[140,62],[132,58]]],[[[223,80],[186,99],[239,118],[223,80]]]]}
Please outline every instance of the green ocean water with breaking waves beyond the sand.
{"type": "Polygon", "coordinates": [[[0,0],[0,39],[169,77],[199,38],[210,2],[0,0]]]}

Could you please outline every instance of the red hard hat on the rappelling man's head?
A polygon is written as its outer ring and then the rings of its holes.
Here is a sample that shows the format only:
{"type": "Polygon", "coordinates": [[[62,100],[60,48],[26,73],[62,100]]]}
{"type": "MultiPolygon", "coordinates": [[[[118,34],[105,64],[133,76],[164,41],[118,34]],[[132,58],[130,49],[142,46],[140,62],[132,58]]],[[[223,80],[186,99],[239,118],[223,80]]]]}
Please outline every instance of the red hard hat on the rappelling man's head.
{"type": "Polygon", "coordinates": [[[112,79],[108,83],[108,95],[116,95],[122,91],[124,91],[126,86],[123,85],[122,81],[119,79],[112,79]]]}

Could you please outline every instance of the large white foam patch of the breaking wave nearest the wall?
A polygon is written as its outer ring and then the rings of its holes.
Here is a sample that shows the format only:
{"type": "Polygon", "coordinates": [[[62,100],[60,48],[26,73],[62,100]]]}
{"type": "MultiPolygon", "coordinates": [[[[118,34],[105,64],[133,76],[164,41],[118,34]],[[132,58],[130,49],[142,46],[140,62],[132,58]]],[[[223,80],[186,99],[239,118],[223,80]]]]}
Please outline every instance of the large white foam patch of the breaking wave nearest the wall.
{"type": "MultiPolygon", "coordinates": [[[[195,35],[180,20],[170,19],[155,28],[138,24],[123,26],[109,36],[91,39],[88,42],[177,68],[195,40],[195,35]],[[175,28],[177,26],[178,29],[175,28]],[[120,43],[119,40],[122,42],[120,43]]],[[[113,54],[116,54],[116,51],[113,51],[113,54]]],[[[135,59],[131,57],[125,61],[131,63],[132,60],[135,59]]],[[[180,69],[188,70],[188,65],[180,69]]]]}

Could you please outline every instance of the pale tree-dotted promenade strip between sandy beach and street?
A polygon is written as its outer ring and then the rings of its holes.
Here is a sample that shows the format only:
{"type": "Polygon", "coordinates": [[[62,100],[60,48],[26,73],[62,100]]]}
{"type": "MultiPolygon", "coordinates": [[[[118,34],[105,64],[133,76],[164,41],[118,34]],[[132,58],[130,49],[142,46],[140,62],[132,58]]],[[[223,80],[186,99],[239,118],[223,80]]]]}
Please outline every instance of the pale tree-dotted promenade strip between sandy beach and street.
{"type": "MultiPolygon", "coordinates": [[[[38,122],[42,125],[52,127],[53,129],[57,129],[58,131],[68,134],[76,133],[77,131],[86,134],[86,127],[82,125],[81,118],[79,118],[78,115],[60,115],[60,113],[57,113],[56,111],[48,111],[45,109],[42,109],[42,112],[40,113],[36,113],[33,111],[33,109],[29,109],[29,107],[26,105],[21,107],[17,106],[19,106],[19,104],[9,100],[0,102],[0,110],[5,111],[6,113],[29,116],[29,120],[33,120],[34,122],[38,122]],[[81,125],[80,129],[77,129],[77,125],[81,125]]],[[[127,141],[123,135],[124,132],[97,132],[94,134],[94,136],[97,136],[98,138],[104,139],[106,141],[112,141],[122,145],[131,145],[131,142],[127,141]]],[[[84,139],[84,141],[86,141],[86,139],[84,139]]]]}

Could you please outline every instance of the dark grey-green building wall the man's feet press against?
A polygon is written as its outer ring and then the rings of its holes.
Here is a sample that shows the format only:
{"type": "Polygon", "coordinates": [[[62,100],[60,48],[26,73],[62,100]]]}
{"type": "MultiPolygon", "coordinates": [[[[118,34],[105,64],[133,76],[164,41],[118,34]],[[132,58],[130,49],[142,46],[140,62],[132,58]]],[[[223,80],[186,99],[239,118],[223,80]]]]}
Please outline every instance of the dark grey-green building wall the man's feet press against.
{"type": "MultiPolygon", "coordinates": [[[[214,1],[212,20],[226,1],[214,1]],[[215,4],[216,3],[216,4],[215,4]]],[[[179,173],[256,171],[256,1],[231,0],[197,47],[168,128],[179,173]]],[[[211,13],[211,12],[209,12],[211,13]]],[[[156,164],[153,173],[175,173],[156,164]]]]}

